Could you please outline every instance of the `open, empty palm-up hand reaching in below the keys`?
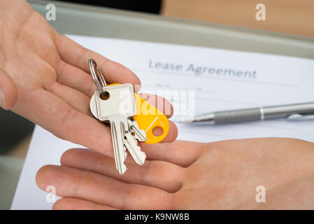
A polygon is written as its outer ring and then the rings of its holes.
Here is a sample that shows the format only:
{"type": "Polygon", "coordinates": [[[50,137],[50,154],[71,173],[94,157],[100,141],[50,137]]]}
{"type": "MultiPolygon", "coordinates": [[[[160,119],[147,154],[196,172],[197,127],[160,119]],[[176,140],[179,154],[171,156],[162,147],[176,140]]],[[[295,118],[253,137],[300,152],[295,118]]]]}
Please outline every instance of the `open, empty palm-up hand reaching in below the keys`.
{"type": "Polygon", "coordinates": [[[299,139],[241,139],[201,144],[143,144],[143,167],[127,172],[113,158],[71,149],[61,166],[36,175],[55,186],[53,209],[314,209],[314,144],[299,139]],[[257,202],[264,186],[266,202],[257,202]]]}

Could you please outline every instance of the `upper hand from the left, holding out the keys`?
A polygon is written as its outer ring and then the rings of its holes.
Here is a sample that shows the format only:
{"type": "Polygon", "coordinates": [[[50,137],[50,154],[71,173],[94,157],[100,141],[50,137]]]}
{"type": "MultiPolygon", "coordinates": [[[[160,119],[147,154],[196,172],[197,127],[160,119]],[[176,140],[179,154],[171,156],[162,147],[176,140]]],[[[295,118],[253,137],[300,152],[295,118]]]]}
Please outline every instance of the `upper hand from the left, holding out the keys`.
{"type": "MultiPolygon", "coordinates": [[[[141,84],[126,67],[58,34],[26,1],[0,0],[1,107],[61,139],[113,156],[110,128],[90,112],[90,97],[96,90],[87,63],[90,58],[97,62],[107,83],[141,84]]],[[[158,109],[171,116],[172,107],[165,99],[144,97],[152,104],[164,101],[160,104],[164,108],[158,109]]],[[[164,141],[174,141],[177,133],[170,122],[164,141]]]]}

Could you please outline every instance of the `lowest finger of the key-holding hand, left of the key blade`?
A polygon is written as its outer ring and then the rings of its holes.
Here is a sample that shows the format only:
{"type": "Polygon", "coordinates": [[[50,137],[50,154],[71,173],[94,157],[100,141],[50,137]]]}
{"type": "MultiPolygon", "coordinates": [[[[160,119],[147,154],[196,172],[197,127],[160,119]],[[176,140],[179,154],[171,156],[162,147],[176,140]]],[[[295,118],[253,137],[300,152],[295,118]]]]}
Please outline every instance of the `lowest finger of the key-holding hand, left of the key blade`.
{"type": "Polygon", "coordinates": [[[51,92],[42,89],[30,92],[20,100],[15,112],[60,139],[113,156],[110,127],[76,111],[51,92]]]}

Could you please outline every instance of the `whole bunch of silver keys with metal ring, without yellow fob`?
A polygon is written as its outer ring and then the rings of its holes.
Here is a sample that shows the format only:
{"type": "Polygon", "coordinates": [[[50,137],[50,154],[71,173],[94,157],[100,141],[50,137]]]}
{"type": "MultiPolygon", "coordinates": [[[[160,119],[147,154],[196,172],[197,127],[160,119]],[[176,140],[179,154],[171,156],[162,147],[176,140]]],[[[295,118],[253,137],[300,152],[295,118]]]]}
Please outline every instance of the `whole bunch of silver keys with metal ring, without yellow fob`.
{"type": "MultiPolygon", "coordinates": [[[[95,65],[96,63],[93,64],[93,66],[95,65]]],[[[96,71],[102,76],[101,71],[98,69],[96,71]]],[[[92,69],[91,72],[93,72],[92,69]]],[[[143,165],[146,158],[145,153],[138,146],[138,141],[146,141],[146,134],[133,119],[136,114],[133,86],[131,84],[107,86],[106,83],[101,86],[98,85],[99,78],[95,80],[95,83],[97,83],[97,87],[101,88],[97,88],[92,96],[90,110],[94,117],[101,122],[110,123],[115,167],[120,174],[124,174],[127,170],[124,165],[127,151],[138,165],[143,165]]]]}

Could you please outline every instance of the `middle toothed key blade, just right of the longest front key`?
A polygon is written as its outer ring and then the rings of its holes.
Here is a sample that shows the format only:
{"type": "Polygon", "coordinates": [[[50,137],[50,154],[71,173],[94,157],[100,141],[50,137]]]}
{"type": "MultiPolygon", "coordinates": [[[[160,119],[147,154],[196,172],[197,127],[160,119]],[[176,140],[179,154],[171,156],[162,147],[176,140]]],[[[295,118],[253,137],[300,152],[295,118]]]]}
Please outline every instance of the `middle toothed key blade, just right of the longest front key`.
{"type": "Polygon", "coordinates": [[[141,147],[137,145],[137,140],[130,132],[125,133],[124,146],[138,165],[144,164],[146,155],[141,151],[141,147]]]}

